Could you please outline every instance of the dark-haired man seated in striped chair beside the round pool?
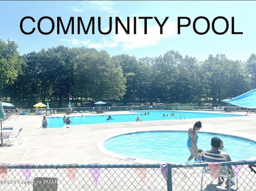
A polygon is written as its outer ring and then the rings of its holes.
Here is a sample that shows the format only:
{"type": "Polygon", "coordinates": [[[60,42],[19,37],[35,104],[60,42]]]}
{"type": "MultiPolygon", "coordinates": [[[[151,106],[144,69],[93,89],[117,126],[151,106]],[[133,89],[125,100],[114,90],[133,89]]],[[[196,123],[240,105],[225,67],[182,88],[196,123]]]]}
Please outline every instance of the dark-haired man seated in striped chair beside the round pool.
{"type": "MultiPolygon", "coordinates": [[[[226,159],[227,159],[226,161],[231,161],[231,158],[227,153],[219,151],[220,143],[221,143],[220,138],[213,137],[212,140],[211,140],[212,149],[211,150],[205,150],[204,152],[213,153],[213,154],[221,154],[221,155],[224,155],[226,157],[226,159]]],[[[206,161],[206,162],[216,162],[216,161],[206,161]]],[[[232,174],[232,181],[230,183],[230,179],[227,179],[226,180],[226,185],[231,184],[231,186],[232,186],[232,185],[235,184],[235,180],[233,179],[234,172],[233,172],[233,169],[232,169],[231,166],[230,166],[230,169],[229,169],[229,173],[232,174]]],[[[223,182],[224,182],[224,178],[219,176],[218,177],[218,183],[222,184],[223,182]]]]}

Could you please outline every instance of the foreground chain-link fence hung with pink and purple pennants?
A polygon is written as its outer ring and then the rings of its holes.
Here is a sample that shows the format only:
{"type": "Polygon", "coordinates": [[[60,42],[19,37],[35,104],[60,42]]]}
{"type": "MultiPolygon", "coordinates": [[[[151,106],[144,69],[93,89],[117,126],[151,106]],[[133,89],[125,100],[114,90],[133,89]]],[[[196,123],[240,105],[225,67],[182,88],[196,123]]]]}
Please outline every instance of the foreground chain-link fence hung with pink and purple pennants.
{"type": "MultiPolygon", "coordinates": [[[[237,184],[231,191],[255,191],[253,161],[232,165],[237,184]]],[[[66,164],[0,163],[0,191],[224,191],[225,183],[203,173],[207,163],[196,164],[66,164]]],[[[256,167],[255,167],[256,168],[256,167]]]]}

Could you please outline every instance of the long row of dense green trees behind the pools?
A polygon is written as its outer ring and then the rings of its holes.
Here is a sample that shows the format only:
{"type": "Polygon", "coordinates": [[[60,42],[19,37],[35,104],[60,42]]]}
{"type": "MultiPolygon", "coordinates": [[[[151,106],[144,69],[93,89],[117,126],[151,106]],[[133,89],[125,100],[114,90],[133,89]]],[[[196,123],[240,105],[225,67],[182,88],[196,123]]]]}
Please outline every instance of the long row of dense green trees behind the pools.
{"type": "Polygon", "coordinates": [[[256,87],[255,54],[242,62],[224,54],[197,61],[173,50],[137,59],[86,47],[60,45],[24,55],[17,49],[14,41],[0,40],[0,97],[18,105],[50,101],[62,107],[72,98],[76,106],[99,100],[217,106],[256,87]]]}

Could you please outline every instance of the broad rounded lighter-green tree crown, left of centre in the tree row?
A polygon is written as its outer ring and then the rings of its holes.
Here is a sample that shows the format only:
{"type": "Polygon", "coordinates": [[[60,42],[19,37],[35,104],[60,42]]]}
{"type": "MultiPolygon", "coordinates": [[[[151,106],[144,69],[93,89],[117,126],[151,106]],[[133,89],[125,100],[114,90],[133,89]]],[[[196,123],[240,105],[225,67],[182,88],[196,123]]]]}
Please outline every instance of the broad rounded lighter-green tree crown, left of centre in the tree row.
{"type": "Polygon", "coordinates": [[[89,51],[79,55],[74,65],[75,90],[80,97],[94,100],[120,100],[126,80],[122,68],[106,51],[89,51]]]}

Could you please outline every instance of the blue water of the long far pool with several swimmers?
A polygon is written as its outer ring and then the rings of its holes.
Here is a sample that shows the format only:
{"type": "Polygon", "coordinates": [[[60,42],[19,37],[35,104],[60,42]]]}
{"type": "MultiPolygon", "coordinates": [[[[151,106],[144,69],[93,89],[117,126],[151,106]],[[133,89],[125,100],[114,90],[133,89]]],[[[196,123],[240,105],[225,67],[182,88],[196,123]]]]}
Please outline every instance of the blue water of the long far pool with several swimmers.
{"type": "MultiPolygon", "coordinates": [[[[201,113],[201,112],[178,112],[178,111],[171,111],[171,110],[143,110],[143,111],[134,111],[131,114],[113,114],[111,112],[96,115],[90,114],[90,116],[70,116],[70,120],[74,124],[71,125],[81,125],[81,124],[99,124],[99,123],[114,123],[114,122],[135,122],[137,116],[140,117],[142,121],[151,121],[151,120],[176,120],[180,119],[192,119],[192,118],[213,118],[213,117],[230,117],[228,114],[215,114],[215,113],[201,113]],[[134,114],[136,112],[136,114],[134,114]],[[150,115],[141,115],[144,113],[150,113],[150,115]],[[170,116],[171,113],[174,113],[175,116],[170,116]],[[169,115],[168,117],[163,117],[163,114],[169,115]],[[111,115],[114,120],[106,120],[108,116],[111,115]]],[[[233,115],[232,115],[233,116],[233,115]]],[[[234,115],[234,116],[242,116],[242,115],[234,115]]],[[[63,123],[63,117],[48,117],[48,126],[49,128],[60,128],[63,127],[65,124],[63,123]]]]}

